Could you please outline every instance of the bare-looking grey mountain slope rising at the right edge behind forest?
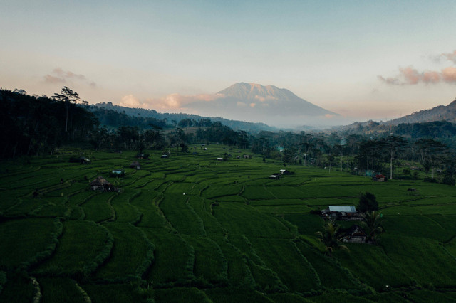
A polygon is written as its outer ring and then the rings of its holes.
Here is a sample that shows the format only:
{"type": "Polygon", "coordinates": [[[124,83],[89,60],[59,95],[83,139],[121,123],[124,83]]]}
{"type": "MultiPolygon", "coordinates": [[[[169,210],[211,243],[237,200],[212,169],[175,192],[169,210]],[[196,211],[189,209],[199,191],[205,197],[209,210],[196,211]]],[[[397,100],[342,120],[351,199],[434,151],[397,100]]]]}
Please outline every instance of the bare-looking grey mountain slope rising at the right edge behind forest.
{"type": "Polygon", "coordinates": [[[449,105],[439,105],[431,108],[430,110],[420,110],[413,114],[398,119],[393,119],[386,124],[400,124],[400,123],[422,123],[432,121],[447,121],[456,123],[456,100],[451,102],[449,105]]]}

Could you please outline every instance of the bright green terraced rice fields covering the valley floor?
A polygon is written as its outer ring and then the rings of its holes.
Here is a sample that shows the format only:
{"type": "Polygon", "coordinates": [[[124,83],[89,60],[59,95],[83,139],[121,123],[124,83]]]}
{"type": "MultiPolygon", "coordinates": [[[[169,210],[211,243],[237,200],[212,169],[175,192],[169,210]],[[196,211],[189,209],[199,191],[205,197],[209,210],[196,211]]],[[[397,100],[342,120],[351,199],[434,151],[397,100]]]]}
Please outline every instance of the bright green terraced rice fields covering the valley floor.
{"type": "Polygon", "coordinates": [[[222,144],[195,150],[137,159],[62,148],[2,161],[0,301],[456,300],[454,186],[285,170],[222,144]],[[292,174],[269,178],[281,169],[292,174]],[[358,207],[362,193],[375,195],[383,233],[328,252],[318,232],[331,220],[319,211],[358,207]]]}

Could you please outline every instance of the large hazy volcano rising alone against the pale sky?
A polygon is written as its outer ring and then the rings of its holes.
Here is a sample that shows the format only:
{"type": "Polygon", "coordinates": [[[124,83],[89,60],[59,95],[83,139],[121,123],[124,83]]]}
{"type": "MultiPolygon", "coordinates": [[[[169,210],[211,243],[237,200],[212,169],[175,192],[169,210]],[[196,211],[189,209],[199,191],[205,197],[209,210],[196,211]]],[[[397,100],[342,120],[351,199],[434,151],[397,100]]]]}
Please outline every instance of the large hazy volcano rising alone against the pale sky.
{"type": "MultiPolygon", "coordinates": [[[[200,115],[222,116],[266,124],[316,124],[338,114],[312,104],[293,92],[274,85],[236,83],[220,92],[217,99],[186,105],[200,115]]],[[[322,123],[320,123],[322,124],[322,123]]]]}

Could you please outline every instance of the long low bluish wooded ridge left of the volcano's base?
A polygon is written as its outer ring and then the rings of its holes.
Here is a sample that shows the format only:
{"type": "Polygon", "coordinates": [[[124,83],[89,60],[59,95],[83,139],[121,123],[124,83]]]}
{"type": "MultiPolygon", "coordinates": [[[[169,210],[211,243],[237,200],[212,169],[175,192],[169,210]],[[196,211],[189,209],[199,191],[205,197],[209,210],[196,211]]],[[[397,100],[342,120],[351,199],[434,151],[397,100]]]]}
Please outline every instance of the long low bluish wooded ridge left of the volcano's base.
{"type": "MultiPolygon", "coordinates": [[[[157,121],[157,126],[162,127],[162,123],[166,122],[167,124],[172,124],[173,121],[179,123],[183,119],[209,119],[212,122],[221,122],[223,125],[230,127],[234,130],[244,130],[246,132],[261,132],[262,130],[267,131],[276,131],[276,127],[270,127],[264,123],[252,123],[252,122],[244,122],[244,121],[237,121],[237,120],[230,120],[224,119],[221,117],[202,117],[199,115],[192,115],[192,114],[185,114],[185,113],[178,113],[178,114],[168,114],[168,113],[160,113],[156,110],[145,110],[142,108],[131,108],[131,107],[123,107],[118,105],[113,105],[112,102],[108,103],[97,103],[95,105],[90,105],[89,110],[92,112],[97,111],[100,108],[104,108],[105,110],[113,110],[115,112],[120,112],[130,117],[142,117],[142,118],[152,118],[157,121]]],[[[103,117],[98,117],[101,122],[103,122],[103,117]]],[[[149,121],[150,119],[145,119],[149,121]]]]}

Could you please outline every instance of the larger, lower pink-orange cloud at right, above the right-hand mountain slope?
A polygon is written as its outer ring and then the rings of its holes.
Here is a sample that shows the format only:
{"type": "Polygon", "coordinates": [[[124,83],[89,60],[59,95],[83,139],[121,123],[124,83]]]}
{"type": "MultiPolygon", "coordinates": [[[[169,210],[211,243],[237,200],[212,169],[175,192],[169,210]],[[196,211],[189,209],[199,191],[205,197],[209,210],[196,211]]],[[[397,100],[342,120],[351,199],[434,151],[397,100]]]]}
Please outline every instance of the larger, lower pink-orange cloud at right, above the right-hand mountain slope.
{"type": "Polygon", "coordinates": [[[419,72],[415,68],[399,68],[399,75],[396,77],[384,78],[377,76],[378,80],[388,85],[417,85],[419,83],[437,84],[437,83],[456,83],[456,68],[448,67],[442,71],[426,70],[419,72]]]}

